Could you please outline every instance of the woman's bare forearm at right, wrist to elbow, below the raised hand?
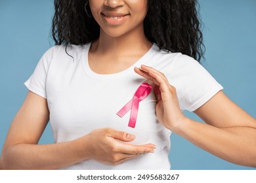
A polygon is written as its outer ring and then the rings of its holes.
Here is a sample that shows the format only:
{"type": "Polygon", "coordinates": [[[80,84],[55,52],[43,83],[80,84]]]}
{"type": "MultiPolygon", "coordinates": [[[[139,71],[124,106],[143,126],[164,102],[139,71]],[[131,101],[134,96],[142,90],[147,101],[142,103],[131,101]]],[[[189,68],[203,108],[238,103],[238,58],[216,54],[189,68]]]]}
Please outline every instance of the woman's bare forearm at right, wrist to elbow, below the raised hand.
{"type": "Polygon", "coordinates": [[[173,132],[226,161],[256,167],[256,129],[253,127],[218,128],[188,119],[173,132]]]}

